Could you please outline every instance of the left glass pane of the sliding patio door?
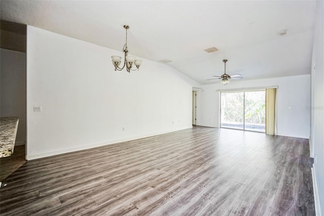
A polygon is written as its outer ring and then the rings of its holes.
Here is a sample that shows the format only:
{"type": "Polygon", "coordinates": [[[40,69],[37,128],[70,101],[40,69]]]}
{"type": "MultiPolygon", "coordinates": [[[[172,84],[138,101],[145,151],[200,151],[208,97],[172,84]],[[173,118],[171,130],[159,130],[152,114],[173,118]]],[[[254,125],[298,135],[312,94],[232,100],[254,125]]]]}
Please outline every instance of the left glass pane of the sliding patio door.
{"type": "Polygon", "coordinates": [[[244,93],[221,93],[221,127],[243,129],[244,93]]]}

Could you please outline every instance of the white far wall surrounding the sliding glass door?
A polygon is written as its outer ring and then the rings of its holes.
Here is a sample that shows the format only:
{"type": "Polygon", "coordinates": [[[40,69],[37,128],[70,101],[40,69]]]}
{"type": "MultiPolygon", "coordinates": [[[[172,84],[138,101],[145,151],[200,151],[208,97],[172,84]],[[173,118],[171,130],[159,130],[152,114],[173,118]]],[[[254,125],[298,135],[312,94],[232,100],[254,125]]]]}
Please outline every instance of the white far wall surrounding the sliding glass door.
{"type": "Polygon", "coordinates": [[[268,86],[279,86],[277,89],[277,135],[309,138],[310,75],[240,80],[230,82],[226,86],[223,84],[203,85],[199,125],[219,126],[219,92],[216,90],[268,86]]]}

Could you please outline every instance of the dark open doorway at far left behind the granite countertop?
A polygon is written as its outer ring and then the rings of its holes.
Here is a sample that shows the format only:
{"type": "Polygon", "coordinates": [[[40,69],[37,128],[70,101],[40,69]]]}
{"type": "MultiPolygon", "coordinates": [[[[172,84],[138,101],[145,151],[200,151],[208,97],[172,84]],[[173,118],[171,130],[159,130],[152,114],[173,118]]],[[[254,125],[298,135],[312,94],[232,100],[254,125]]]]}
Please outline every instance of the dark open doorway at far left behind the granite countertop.
{"type": "Polygon", "coordinates": [[[0,159],[0,182],[26,163],[26,34],[24,24],[1,21],[1,117],[18,117],[11,156],[0,159]]]}

